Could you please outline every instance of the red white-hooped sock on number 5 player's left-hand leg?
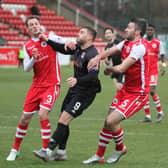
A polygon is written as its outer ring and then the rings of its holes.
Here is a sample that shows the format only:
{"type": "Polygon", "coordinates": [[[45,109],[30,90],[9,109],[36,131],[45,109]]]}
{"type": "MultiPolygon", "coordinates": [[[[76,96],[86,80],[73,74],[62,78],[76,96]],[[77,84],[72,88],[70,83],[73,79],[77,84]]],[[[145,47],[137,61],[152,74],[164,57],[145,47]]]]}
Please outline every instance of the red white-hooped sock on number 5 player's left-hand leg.
{"type": "Polygon", "coordinates": [[[99,157],[103,157],[106,147],[109,142],[112,140],[112,132],[103,128],[99,135],[99,144],[96,155],[99,157]]]}

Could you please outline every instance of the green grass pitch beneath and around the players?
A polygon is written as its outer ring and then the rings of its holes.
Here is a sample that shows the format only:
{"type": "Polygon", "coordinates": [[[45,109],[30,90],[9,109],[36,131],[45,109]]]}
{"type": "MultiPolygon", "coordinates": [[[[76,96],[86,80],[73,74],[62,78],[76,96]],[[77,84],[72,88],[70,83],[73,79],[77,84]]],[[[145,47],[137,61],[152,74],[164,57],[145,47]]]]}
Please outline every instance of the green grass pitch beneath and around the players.
{"type": "MultiPolygon", "coordinates": [[[[54,110],[50,114],[52,131],[60,113],[60,107],[67,91],[66,78],[73,75],[70,66],[61,67],[62,87],[54,110]]],[[[102,128],[108,107],[115,96],[112,80],[103,75],[100,79],[102,92],[82,116],[72,121],[68,142],[68,160],[44,163],[36,158],[32,151],[42,145],[40,138],[40,123],[35,115],[30,123],[28,133],[21,145],[21,155],[14,162],[7,162],[6,157],[14,143],[17,124],[22,114],[24,99],[31,85],[33,73],[18,69],[0,69],[0,167],[1,168],[167,168],[168,167],[168,76],[159,76],[157,92],[159,93],[165,118],[157,124],[156,109],[151,102],[152,122],[142,123],[144,112],[140,111],[130,119],[122,122],[125,132],[124,142],[128,153],[113,165],[94,164],[83,165],[82,160],[95,154],[99,131],[102,128]]],[[[112,141],[106,151],[105,159],[113,152],[112,141]]]]}

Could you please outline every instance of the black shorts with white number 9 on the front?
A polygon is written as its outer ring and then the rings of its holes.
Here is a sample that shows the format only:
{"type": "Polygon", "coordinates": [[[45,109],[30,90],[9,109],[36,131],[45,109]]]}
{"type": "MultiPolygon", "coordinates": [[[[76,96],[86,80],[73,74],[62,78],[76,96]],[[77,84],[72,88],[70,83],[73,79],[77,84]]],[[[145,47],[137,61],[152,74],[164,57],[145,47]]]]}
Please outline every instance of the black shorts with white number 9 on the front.
{"type": "Polygon", "coordinates": [[[68,91],[62,107],[61,112],[66,111],[71,114],[74,118],[81,115],[83,110],[89,107],[92,104],[93,100],[96,97],[96,93],[74,93],[68,91]]]}

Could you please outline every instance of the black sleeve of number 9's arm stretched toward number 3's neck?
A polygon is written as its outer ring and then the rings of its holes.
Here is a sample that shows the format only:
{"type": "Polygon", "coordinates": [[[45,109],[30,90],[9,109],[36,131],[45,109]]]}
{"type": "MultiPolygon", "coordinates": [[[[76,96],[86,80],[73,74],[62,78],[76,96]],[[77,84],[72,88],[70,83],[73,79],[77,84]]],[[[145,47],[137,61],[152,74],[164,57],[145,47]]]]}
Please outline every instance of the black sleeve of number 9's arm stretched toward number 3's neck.
{"type": "Polygon", "coordinates": [[[50,45],[53,50],[56,50],[62,54],[74,54],[75,50],[71,50],[70,48],[67,49],[67,51],[64,49],[65,44],[60,44],[52,40],[48,40],[47,44],[50,45]]]}

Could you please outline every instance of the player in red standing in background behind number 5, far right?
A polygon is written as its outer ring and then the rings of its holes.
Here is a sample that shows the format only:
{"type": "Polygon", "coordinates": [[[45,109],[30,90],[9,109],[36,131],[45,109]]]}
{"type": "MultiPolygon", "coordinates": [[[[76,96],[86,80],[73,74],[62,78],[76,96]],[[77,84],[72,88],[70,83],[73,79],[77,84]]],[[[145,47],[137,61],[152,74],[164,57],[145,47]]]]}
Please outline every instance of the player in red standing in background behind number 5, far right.
{"type": "MultiPolygon", "coordinates": [[[[158,111],[156,122],[161,122],[164,113],[162,111],[162,107],[160,104],[160,98],[158,94],[156,93],[156,86],[158,83],[158,60],[159,56],[161,56],[162,61],[162,68],[161,68],[161,75],[164,75],[165,69],[166,69],[166,63],[165,63],[165,50],[163,43],[154,37],[155,35],[155,26],[152,24],[148,25],[147,31],[146,31],[146,40],[148,41],[148,48],[149,48],[149,56],[150,56],[150,95],[152,96],[153,102],[155,104],[155,107],[158,111]]],[[[144,122],[151,122],[151,114],[150,114],[150,102],[149,99],[144,106],[144,110],[146,113],[146,116],[144,118],[144,122]]]]}

